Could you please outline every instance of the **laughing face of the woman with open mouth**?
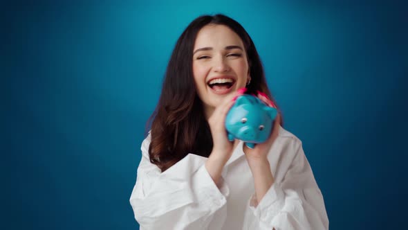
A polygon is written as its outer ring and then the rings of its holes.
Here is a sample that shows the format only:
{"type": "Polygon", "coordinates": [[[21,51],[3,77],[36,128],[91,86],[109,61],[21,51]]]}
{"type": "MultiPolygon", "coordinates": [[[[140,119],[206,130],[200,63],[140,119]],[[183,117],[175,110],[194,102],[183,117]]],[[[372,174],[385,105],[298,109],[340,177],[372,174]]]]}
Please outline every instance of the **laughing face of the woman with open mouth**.
{"type": "Polygon", "coordinates": [[[207,116],[223,98],[250,80],[241,38],[230,28],[210,24],[201,28],[193,54],[194,82],[207,116]]]}

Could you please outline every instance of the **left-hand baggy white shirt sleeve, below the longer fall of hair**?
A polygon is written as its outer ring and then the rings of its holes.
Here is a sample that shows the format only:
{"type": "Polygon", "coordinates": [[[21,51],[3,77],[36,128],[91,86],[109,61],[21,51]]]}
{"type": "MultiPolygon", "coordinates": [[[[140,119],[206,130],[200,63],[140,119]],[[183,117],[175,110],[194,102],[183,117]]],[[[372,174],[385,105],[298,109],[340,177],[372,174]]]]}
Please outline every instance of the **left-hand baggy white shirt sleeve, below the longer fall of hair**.
{"type": "Polygon", "coordinates": [[[215,214],[225,220],[229,189],[222,178],[218,186],[214,184],[205,168],[205,157],[187,154],[161,173],[149,161],[148,149],[149,137],[142,143],[142,159],[130,197],[140,229],[206,229],[215,214]]]}

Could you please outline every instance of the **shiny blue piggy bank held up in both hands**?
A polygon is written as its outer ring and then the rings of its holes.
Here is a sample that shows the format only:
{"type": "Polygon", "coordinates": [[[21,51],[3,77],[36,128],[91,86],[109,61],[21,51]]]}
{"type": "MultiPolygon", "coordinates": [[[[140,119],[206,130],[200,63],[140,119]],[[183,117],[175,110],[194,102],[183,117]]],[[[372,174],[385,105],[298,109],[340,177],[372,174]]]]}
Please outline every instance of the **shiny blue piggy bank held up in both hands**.
{"type": "Polygon", "coordinates": [[[228,140],[239,139],[248,148],[266,141],[272,130],[277,109],[269,107],[259,98],[244,94],[239,96],[225,118],[228,140]]]}

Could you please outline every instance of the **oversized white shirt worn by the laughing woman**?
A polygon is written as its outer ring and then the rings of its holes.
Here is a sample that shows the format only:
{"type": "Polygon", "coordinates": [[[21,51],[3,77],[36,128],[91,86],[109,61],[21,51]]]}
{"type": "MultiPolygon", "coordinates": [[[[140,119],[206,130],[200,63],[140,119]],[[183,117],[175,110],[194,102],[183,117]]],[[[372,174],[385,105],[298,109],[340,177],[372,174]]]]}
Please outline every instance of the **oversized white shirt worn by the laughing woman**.
{"type": "Polygon", "coordinates": [[[225,164],[219,186],[206,157],[187,154],[161,173],[149,161],[150,134],[130,203],[140,229],[328,229],[322,193],[302,141],[280,127],[268,154],[275,182],[257,204],[243,142],[225,164]]]}

